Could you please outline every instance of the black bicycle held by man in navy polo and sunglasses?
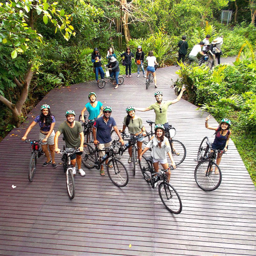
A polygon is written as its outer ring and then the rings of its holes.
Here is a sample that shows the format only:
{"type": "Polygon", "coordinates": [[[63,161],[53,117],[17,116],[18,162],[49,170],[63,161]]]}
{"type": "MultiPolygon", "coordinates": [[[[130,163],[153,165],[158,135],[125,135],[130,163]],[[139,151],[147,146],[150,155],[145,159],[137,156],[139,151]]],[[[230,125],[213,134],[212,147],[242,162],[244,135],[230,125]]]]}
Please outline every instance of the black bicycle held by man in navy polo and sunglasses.
{"type": "Polygon", "coordinates": [[[106,164],[106,170],[110,177],[110,180],[118,187],[124,187],[129,182],[129,174],[123,163],[117,159],[114,152],[116,141],[112,142],[109,147],[104,147],[103,150],[99,150],[97,145],[95,149],[88,143],[83,145],[83,157],[82,163],[89,169],[96,168],[100,169],[100,165],[103,164],[107,159],[111,158],[108,164],[106,164]],[[105,151],[105,155],[99,160],[99,152],[105,151]]]}

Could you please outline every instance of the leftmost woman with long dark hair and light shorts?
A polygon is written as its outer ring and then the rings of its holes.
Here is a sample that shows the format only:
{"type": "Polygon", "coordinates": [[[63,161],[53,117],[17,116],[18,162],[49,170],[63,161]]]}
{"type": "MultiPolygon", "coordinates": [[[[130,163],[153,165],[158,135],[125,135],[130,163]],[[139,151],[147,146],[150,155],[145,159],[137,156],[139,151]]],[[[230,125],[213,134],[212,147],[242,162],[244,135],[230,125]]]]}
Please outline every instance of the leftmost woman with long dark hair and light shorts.
{"type": "Polygon", "coordinates": [[[44,151],[47,161],[42,164],[42,166],[47,166],[48,164],[52,163],[53,168],[57,167],[55,163],[55,153],[54,153],[54,125],[55,125],[55,118],[51,114],[50,106],[48,104],[41,105],[41,114],[36,116],[34,121],[29,125],[25,135],[22,137],[22,140],[26,140],[28,134],[30,133],[31,129],[38,123],[40,126],[40,133],[39,133],[39,140],[42,141],[42,151],[44,151]],[[48,151],[48,145],[51,152],[52,160],[50,158],[50,154],[48,151]]]}

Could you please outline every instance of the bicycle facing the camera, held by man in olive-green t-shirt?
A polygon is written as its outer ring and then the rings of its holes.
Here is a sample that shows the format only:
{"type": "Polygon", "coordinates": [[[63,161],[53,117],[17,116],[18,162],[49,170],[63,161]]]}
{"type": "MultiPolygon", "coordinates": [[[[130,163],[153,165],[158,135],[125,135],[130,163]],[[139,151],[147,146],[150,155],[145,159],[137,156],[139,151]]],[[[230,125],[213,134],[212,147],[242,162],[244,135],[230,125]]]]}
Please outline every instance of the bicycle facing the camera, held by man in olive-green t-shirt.
{"type": "Polygon", "coordinates": [[[72,172],[73,165],[71,165],[70,157],[77,152],[79,152],[79,148],[66,148],[65,146],[63,146],[63,151],[60,151],[60,154],[63,154],[61,160],[63,161],[64,173],[66,173],[68,195],[71,200],[75,197],[75,180],[72,172]]]}

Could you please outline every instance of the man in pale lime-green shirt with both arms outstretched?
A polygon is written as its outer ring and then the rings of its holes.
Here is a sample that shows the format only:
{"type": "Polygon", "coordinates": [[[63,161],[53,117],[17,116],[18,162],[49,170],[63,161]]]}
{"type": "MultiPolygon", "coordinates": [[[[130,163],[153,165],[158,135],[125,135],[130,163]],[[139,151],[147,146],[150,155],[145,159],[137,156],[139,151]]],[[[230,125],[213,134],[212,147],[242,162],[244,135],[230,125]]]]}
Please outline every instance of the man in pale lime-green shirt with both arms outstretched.
{"type": "Polygon", "coordinates": [[[156,113],[156,120],[155,123],[156,124],[163,124],[164,125],[164,129],[168,129],[168,120],[167,120],[167,110],[168,110],[168,106],[174,103],[177,103],[178,101],[180,101],[181,96],[183,94],[183,92],[186,90],[185,86],[182,87],[181,92],[179,94],[179,96],[174,99],[174,100],[166,100],[163,101],[163,93],[161,91],[157,91],[155,92],[155,97],[156,97],[156,102],[151,104],[150,106],[148,106],[145,109],[142,108],[135,108],[135,110],[138,111],[149,111],[149,110],[154,110],[156,113]]]}

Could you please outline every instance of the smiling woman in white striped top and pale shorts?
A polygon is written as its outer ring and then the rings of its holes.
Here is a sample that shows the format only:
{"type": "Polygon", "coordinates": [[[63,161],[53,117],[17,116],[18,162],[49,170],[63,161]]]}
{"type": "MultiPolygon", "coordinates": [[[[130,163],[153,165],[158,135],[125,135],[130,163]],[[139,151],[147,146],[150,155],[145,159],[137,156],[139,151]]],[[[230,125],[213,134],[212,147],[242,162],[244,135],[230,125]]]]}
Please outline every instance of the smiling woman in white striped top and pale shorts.
{"type": "MultiPolygon", "coordinates": [[[[168,161],[166,158],[166,154],[168,154],[170,161],[174,168],[176,168],[176,164],[174,162],[172,151],[170,149],[170,144],[168,139],[164,136],[164,126],[163,124],[156,124],[155,126],[155,135],[151,138],[151,140],[146,144],[143,152],[140,154],[139,159],[141,160],[142,155],[152,148],[151,156],[153,157],[153,166],[155,172],[158,173],[159,163],[162,165],[164,169],[168,169],[168,161]]],[[[170,181],[170,169],[167,170],[167,181],[170,181]]],[[[155,183],[156,187],[157,183],[155,183]]]]}

